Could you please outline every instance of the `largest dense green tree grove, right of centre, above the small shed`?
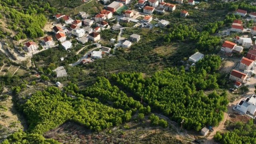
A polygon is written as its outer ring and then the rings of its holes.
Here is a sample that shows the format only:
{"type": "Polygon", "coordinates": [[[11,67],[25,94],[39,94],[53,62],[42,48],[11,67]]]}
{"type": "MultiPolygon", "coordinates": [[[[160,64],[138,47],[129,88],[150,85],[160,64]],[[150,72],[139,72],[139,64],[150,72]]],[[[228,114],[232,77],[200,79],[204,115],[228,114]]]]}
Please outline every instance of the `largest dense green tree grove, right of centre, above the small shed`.
{"type": "MultiPolygon", "coordinates": [[[[207,67],[202,62],[201,65],[207,67]]],[[[122,72],[113,78],[137,98],[143,97],[153,110],[177,122],[184,119],[186,129],[198,131],[205,125],[218,125],[228,103],[226,93],[203,93],[202,90],[218,88],[216,76],[207,74],[204,69],[195,71],[191,67],[185,72],[182,68],[168,68],[145,79],[141,73],[122,72]]]]}

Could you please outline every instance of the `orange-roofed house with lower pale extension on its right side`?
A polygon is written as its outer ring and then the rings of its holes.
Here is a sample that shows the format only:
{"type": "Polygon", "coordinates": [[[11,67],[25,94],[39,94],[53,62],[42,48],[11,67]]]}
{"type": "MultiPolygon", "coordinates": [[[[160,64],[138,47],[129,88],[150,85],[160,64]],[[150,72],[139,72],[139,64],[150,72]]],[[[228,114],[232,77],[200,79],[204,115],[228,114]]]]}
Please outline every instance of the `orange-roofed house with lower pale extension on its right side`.
{"type": "Polygon", "coordinates": [[[242,46],[237,46],[236,43],[233,43],[230,41],[225,41],[221,47],[221,52],[224,52],[224,53],[232,53],[232,52],[241,53],[242,51],[243,51],[242,46]]]}

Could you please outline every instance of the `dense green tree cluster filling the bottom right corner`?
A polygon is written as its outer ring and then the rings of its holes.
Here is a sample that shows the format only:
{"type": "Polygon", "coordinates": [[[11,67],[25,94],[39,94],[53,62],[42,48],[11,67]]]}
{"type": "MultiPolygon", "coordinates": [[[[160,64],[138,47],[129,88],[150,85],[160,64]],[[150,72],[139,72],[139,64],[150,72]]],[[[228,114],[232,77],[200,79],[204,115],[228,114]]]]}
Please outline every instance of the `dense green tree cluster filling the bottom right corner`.
{"type": "Polygon", "coordinates": [[[225,133],[217,133],[214,135],[214,139],[222,144],[253,144],[256,143],[256,125],[253,123],[253,119],[247,123],[228,122],[227,129],[229,131],[225,133]]]}

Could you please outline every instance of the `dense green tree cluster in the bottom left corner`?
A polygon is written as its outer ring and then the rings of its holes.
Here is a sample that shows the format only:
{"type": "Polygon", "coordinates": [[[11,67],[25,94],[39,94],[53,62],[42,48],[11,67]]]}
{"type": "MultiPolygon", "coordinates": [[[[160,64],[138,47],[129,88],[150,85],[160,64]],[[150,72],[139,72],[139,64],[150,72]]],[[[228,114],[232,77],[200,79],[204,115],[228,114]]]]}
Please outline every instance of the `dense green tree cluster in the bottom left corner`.
{"type": "Polygon", "coordinates": [[[1,144],[16,144],[16,143],[26,143],[26,144],[60,144],[54,139],[45,139],[40,134],[27,134],[22,130],[14,132],[9,135],[1,144]]]}

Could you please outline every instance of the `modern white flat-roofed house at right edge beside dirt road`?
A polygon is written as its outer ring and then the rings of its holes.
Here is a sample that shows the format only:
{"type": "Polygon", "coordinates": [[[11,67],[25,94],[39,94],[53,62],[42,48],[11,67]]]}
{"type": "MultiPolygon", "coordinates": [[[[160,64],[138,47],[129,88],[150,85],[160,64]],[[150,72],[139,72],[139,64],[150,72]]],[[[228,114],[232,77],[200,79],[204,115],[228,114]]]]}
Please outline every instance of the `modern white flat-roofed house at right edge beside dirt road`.
{"type": "Polygon", "coordinates": [[[256,111],[256,95],[250,95],[246,99],[241,100],[235,106],[235,109],[245,114],[249,113],[254,115],[256,111]]]}

